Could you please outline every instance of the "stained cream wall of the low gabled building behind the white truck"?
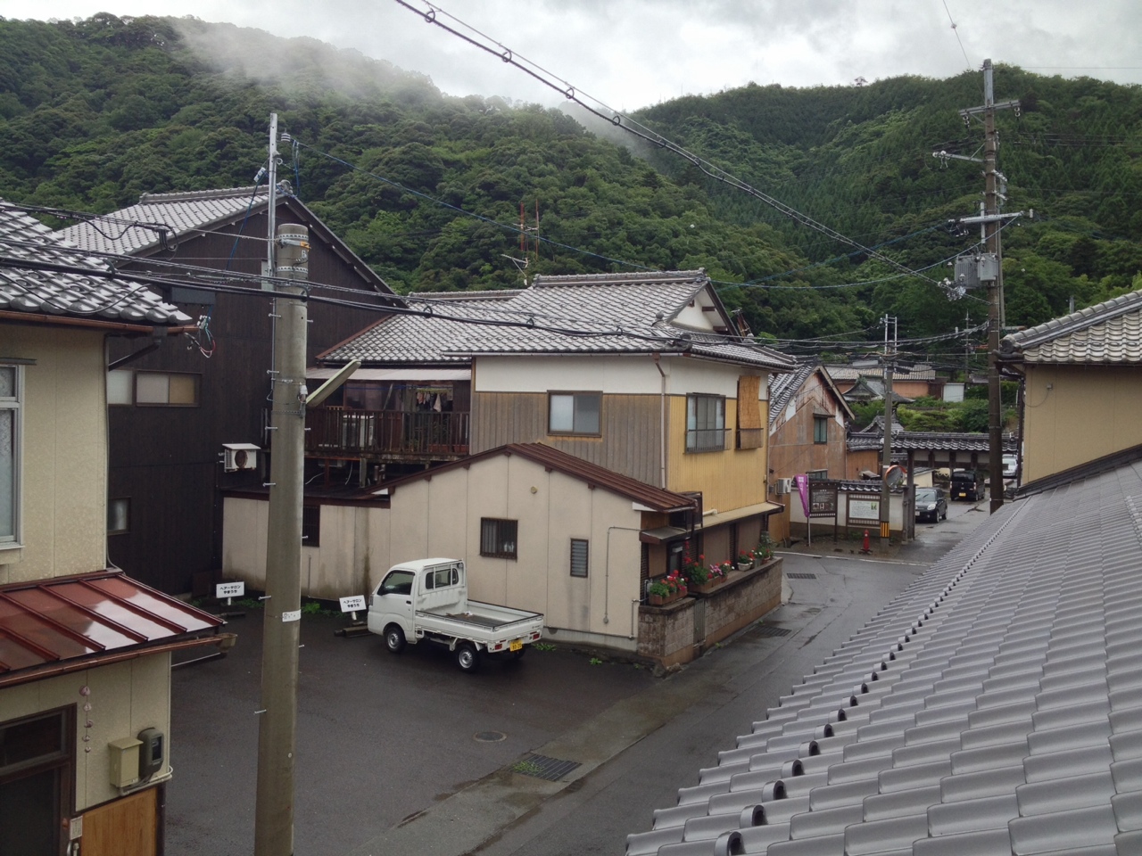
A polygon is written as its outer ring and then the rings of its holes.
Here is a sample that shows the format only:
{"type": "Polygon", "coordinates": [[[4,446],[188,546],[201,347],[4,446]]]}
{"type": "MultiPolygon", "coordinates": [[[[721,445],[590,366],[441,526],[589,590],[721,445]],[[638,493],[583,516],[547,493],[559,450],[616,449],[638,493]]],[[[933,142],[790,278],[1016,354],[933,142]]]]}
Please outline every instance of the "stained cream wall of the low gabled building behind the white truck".
{"type": "MultiPolygon", "coordinates": [[[[388,509],[322,506],[321,546],[304,550],[301,590],[364,593],[400,562],[463,558],[474,600],[541,612],[560,638],[630,647],[642,528],[632,504],[521,455],[492,455],[399,486],[388,509]],[[482,517],[518,520],[517,559],[480,555],[482,517]],[[589,542],[586,579],[571,576],[572,538],[589,542]]],[[[264,586],[266,515],[265,501],[226,498],[227,579],[264,586]]]]}

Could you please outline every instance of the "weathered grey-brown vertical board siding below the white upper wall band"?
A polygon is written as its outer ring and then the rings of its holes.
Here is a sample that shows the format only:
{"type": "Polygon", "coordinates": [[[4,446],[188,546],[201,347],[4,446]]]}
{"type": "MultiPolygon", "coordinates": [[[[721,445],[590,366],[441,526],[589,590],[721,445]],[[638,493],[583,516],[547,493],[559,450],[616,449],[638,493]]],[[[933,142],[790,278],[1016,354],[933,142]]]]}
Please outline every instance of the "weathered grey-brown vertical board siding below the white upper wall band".
{"type": "MultiPolygon", "coordinates": [[[[684,404],[684,402],[683,402],[684,404]]],[[[685,425],[685,410],[683,410],[685,425]]],[[[547,433],[544,393],[475,393],[472,401],[472,453],[506,443],[546,443],[601,467],[658,485],[661,399],[657,395],[604,395],[601,437],[547,433]]]]}

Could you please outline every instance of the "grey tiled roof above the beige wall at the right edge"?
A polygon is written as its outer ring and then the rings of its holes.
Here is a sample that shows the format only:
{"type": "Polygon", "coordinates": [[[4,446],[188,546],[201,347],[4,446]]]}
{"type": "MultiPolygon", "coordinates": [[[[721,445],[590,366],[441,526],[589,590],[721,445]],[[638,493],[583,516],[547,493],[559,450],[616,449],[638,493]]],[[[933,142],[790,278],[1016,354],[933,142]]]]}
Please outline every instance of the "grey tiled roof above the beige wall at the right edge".
{"type": "Polygon", "coordinates": [[[1024,363],[1142,363],[1142,290],[1004,337],[999,352],[1024,363]]]}

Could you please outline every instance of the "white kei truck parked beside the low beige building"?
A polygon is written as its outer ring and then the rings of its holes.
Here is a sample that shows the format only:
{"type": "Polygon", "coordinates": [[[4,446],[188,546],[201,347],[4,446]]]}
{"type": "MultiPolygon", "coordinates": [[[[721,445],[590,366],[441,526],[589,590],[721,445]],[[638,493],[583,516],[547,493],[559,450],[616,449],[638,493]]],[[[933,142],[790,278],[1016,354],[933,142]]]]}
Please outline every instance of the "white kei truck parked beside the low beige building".
{"type": "Polygon", "coordinates": [[[461,559],[413,559],[393,565],[369,600],[369,630],[400,654],[420,640],[448,647],[466,672],[484,655],[522,657],[542,635],[540,613],[468,600],[461,559]]]}

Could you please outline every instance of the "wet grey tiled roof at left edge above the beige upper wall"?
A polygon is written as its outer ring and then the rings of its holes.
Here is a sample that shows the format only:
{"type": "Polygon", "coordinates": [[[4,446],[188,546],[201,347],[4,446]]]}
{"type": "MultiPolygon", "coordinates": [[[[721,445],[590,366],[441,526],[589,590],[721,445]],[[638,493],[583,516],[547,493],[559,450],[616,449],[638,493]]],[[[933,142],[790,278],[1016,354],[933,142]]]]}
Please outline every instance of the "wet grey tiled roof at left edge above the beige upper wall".
{"type": "MultiPolygon", "coordinates": [[[[47,226],[3,200],[0,200],[0,257],[105,269],[102,261],[69,248],[47,226]]],[[[7,265],[0,266],[0,312],[147,326],[191,322],[188,315],[143,285],[7,265]]]]}

